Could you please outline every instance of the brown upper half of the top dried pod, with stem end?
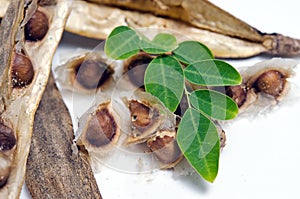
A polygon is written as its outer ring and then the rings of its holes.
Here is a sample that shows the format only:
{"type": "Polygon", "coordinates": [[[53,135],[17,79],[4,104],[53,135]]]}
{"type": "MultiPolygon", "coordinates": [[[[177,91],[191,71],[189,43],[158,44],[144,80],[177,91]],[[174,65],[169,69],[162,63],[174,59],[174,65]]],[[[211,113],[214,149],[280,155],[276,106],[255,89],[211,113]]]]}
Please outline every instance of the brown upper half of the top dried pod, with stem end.
{"type": "Polygon", "coordinates": [[[259,44],[266,49],[266,53],[272,55],[300,54],[300,40],[281,34],[262,33],[207,0],[88,1],[181,20],[199,29],[259,44]]]}

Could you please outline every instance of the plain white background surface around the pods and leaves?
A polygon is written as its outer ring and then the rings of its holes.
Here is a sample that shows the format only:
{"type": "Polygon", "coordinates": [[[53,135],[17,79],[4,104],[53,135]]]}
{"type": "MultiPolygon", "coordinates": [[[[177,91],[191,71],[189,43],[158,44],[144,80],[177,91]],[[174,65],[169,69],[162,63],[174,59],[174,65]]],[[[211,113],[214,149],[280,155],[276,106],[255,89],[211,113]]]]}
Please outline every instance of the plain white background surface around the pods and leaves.
{"type": "MultiPolygon", "coordinates": [[[[299,1],[212,2],[262,32],[300,38],[299,1]]],[[[94,44],[83,38],[82,41],[86,47],[94,44]]],[[[57,52],[72,45],[72,36],[65,34],[57,52]]],[[[259,56],[229,62],[242,67],[269,58],[259,56]]],[[[300,56],[295,59],[300,60],[300,56]]],[[[300,102],[283,103],[267,115],[239,119],[227,126],[227,145],[221,153],[219,174],[213,184],[196,175],[178,176],[172,171],[126,174],[104,167],[96,174],[100,192],[105,199],[298,199],[299,113],[300,102]]],[[[25,189],[21,198],[30,198],[25,189]]]]}

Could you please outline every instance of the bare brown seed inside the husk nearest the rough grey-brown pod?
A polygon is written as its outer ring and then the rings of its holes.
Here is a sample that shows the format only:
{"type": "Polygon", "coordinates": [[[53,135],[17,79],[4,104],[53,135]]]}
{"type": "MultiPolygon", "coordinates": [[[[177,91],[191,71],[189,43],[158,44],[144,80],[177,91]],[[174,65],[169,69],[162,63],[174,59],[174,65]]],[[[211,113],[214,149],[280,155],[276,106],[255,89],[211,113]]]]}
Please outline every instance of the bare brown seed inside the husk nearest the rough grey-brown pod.
{"type": "Polygon", "coordinates": [[[117,123],[107,108],[96,112],[89,121],[86,140],[94,147],[107,145],[116,135],[117,123]]]}

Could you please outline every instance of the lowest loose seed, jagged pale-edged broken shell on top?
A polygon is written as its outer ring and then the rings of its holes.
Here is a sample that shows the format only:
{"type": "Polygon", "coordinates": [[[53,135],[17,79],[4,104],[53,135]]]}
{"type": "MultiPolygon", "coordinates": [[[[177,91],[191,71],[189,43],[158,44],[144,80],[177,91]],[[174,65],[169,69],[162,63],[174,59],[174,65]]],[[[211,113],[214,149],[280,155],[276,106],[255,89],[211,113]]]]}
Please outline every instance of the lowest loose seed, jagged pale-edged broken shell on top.
{"type": "Polygon", "coordinates": [[[158,131],[147,141],[147,146],[163,164],[163,169],[176,166],[183,155],[175,139],[175,131],[158,131]]]}

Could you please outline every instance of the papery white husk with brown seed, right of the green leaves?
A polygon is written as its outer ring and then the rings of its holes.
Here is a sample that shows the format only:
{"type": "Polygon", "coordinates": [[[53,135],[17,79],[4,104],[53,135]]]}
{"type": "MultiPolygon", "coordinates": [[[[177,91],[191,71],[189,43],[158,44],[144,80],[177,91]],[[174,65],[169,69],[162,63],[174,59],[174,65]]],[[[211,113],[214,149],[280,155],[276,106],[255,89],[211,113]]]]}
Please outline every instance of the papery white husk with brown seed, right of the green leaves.
{"type": "MultiPolygon", "coordinates": [[[[297,83],[299,81],[299,62],[296,60],[273,58],[250,67],[243,67],[240,69],[240,73],[243,82],[238,86],[240,90],[235,90],[235,95],[242,96],[235,98],[240,113],[257,116],[258,113],[275,108],[283,101],[299,97],[299,84],[297,83]],[[273,74],[269,75],[270,78],[277,77],[274,76],[277,74],[279,79],[264,80],[263,89],[259,88],[258,81],[270,71],[273,74]]],[[[232,97],[232,92],[229,96],[232,97]]]]}

